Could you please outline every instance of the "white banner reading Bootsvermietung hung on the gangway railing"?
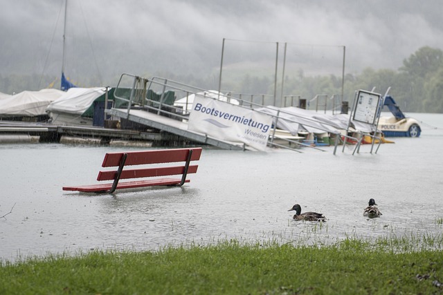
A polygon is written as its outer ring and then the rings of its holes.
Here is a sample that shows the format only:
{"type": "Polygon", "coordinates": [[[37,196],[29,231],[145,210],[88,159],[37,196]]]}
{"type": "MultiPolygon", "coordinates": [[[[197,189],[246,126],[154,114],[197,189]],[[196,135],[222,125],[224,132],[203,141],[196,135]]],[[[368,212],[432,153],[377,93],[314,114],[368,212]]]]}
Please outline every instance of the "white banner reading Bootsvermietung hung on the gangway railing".
{"type": "Polygon", "coordinates": [[[247,108],[195,97],[188,130],[205,133],[219,140],[244,142],[264,151],[271,131],[272,117],[247,108]]]}

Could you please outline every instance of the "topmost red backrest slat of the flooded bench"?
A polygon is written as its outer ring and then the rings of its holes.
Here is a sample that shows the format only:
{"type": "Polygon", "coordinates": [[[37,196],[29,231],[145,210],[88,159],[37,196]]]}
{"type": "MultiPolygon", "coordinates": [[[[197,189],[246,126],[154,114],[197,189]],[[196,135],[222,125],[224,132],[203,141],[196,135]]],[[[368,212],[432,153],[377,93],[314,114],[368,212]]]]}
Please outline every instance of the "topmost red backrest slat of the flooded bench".
{"type": "MultiPolygon", "coordinates": [[[[191,161],[200,159],[201,148],[191,148],[191,161]]],[[[156,151],[130,151],[127,152],[125,166],[141,164],[159,164],[170,162],[184,162],[190,149],[165,149],[156,151]]],[[[120,164],[123,153],[107,153],[103,159],[102,167],[113,167],[120,164]]]]}

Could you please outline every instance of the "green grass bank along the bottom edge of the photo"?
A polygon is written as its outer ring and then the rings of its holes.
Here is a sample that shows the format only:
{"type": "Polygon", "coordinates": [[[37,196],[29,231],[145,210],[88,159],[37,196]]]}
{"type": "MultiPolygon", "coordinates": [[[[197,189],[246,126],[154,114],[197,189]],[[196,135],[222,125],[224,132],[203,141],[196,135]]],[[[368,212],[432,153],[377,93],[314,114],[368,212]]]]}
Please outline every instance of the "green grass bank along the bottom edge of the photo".
{"type": "Polygon", "coordinates": [[[307,247],[234,240],[3,261],[0,294],[443,294],[442,252],[408,251],[416,242],[346,239],[307,247]]]}

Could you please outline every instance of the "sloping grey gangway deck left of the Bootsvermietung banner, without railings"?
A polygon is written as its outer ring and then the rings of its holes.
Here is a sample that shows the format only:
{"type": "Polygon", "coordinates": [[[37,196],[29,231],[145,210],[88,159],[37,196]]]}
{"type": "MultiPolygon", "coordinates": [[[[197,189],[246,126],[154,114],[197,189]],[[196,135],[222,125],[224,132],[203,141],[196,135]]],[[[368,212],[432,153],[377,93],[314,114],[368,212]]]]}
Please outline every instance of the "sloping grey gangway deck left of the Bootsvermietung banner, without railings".
{"type": "Polygon", "coordinates": [[[188,131],[188,122],[186,120],[176,120],[171,117],[165,117],[163,115],[158,115],[157,113],[152,113],[148,110],[131,109],[128,112],[128,110],[125,108],[111,108],[110,110],[107,110],[107,113],[108,115],[120,117],[131,122],[136,122],[138,124],[150,126],[152,128],[179,135],[181,137],[186,137],[195,142],[217,146],[221,149],[241,151],[248,149],[248,146],[241,143],[226,142],[203,133],[188,131]]]}

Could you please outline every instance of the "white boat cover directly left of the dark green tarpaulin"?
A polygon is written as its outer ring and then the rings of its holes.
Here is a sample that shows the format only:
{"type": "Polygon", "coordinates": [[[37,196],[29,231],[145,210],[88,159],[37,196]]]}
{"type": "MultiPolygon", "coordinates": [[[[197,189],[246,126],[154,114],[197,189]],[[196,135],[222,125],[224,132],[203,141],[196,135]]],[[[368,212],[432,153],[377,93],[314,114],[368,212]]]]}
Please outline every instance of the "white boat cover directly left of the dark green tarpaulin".
{"type": "Polygon", "coordinates": [[[48,105],[46,112],[82,115],[94,100],[105,93],[106,87],[69,88],[62,97],[48,105]]]}

